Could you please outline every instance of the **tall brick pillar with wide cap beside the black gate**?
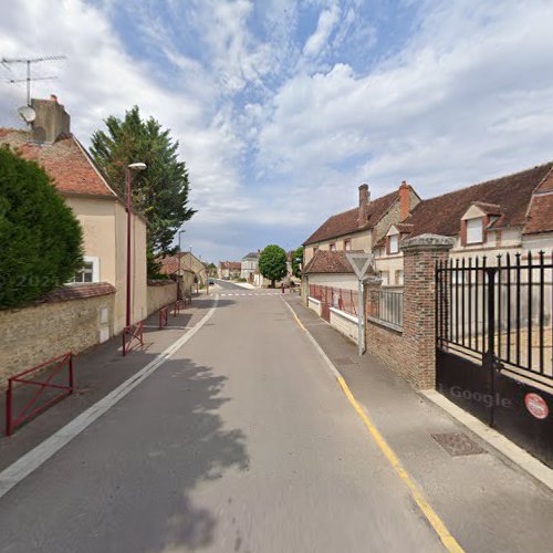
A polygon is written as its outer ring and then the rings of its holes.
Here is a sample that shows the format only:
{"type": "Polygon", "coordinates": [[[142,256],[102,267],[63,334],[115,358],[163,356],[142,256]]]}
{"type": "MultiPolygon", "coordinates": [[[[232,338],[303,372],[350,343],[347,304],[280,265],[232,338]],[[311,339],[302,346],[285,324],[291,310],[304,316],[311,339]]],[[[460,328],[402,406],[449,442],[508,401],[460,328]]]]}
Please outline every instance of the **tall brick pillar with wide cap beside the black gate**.
{"type": "Polygon", "coordinates": [[[449,255],[455,239],[421,234],[404,240],[404,332],[406,376],[417,388],[436,387],[436,263],[449,255]]]}

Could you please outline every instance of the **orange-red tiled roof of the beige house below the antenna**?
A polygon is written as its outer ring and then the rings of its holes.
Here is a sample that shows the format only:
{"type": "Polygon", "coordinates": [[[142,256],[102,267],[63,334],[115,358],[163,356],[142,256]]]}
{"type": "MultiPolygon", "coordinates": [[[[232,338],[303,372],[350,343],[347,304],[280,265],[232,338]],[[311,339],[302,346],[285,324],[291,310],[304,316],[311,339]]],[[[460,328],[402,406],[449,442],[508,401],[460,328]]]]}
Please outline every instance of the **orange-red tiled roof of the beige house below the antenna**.
{"type": "Polygon", "coordinates": [[[29,139],[25,131],[0,128],[0,145],[9,145],[22,158],[36,161],[60,192],[118,198],[73,135],[65,135],[53,144],[29,139]]]}

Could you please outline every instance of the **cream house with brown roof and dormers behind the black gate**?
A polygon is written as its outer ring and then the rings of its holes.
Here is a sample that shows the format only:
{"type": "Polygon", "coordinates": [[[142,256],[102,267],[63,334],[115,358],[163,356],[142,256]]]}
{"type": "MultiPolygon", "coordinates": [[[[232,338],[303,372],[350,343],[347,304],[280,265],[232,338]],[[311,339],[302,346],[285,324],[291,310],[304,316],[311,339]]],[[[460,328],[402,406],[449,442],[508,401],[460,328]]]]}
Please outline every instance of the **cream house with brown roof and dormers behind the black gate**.
{"type": "Polygon", "coordinates": [[[383,285],[403,284],[404,240],[420,234],[455,239],[450,259],[553,248],[553,161],[514,175],[420,201],[401,222],[392,223],[375,246],[383,285]]]}

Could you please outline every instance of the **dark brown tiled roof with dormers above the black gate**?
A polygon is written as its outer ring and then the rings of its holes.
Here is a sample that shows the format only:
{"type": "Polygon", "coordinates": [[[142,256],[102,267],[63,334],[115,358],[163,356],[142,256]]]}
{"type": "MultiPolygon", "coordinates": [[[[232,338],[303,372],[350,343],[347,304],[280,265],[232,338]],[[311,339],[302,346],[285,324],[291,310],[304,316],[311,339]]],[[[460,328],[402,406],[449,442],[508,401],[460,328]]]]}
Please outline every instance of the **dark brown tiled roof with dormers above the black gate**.
{"type": "Polygon", "coordinates": [[[422,200],[404,223],[411,226],[410,237],[424,233],[457,236],[460,232],[461,217],[474,204],[487,213],[499,215],[499,218],[490,225],[490,229],[524,227],[528,223],[525,232],[529,232],[529,229],[534,229],[532,231],[535,232],[535,228],[542,229],[546,222],[553,229],[553,211],[551,211],[553,200],[552,204],[543,202],[535,206],[535,217],[531,213],[530,222],[528,218],[532,194],[539,186],[543,186],[552,168],[553,161],[550,161],[521,173],[422,200]],[[544,211],[547,211],[549,219],[544,211]]]}

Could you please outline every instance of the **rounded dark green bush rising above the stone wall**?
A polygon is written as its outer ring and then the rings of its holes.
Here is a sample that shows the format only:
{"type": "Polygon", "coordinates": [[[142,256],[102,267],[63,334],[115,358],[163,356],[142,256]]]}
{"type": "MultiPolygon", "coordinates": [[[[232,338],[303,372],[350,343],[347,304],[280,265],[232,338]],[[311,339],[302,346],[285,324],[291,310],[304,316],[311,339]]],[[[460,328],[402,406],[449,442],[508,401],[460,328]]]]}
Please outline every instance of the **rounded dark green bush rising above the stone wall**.
{"type": "Polygon", "coordinates": [[[46,173],[0,148],[0,307],[39,300],[83,263],[80,222],[46,173]]]}

